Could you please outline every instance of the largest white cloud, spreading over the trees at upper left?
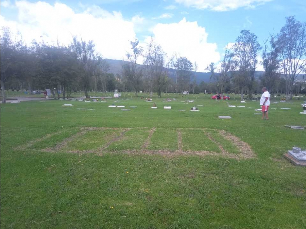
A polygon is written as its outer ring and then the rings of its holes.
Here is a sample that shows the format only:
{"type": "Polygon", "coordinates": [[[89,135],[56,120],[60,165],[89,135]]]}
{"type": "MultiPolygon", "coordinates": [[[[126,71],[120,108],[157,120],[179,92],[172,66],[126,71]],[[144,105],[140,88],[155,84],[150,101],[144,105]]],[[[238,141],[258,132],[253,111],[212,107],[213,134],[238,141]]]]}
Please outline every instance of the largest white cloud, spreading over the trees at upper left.
{"type": "Polygon", "coordinates": [[[8,21],[0,16],[2,26],[10,27],[13,32],[21,32],[26,43],[33,39],[48,43],[59,42],[68,45],[72,35],[81,35],[85,41],[93,40],[96,50],[104,58],[122,59],[129,50],[129,41],[136,34],[134,26],[143,18],[134,16],[125,20],[120,12],[108,12],[98,6],[88,7],[82,13],[76,13],[65,4],[46,2],[15,2],[18,20],[8,21]]]}

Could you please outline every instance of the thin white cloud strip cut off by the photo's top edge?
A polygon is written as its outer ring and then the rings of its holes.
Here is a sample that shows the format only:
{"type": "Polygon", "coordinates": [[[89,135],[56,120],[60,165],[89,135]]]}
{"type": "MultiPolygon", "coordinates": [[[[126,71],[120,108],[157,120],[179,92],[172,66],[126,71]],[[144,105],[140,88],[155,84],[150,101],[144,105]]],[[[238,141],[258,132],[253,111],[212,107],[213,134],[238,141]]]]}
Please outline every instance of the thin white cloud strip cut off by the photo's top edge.
{"type": "Polygon", "coordinates": [[[195,7],[197,9],[211,9],[214,11],[228,11],[235,10],[240,7],[254,8],[262,5],[265,2],[273,0],[175,0],[188,7],[195,7]]]}

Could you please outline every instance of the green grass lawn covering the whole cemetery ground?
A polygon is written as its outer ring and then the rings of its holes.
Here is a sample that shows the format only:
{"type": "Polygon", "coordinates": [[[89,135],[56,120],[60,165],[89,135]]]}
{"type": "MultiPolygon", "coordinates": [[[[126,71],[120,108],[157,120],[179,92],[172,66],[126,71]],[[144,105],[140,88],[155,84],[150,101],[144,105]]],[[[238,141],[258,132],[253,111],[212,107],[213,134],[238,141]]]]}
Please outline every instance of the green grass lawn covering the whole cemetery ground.
{"type": "Polygon", "coordinates": [[[306,125],[301,101],[262,120],[258,101],[177,98],[1,104],[1,227],[306,228],[306,168],[283,158],[306,149],[284,127],[306,125]]]}

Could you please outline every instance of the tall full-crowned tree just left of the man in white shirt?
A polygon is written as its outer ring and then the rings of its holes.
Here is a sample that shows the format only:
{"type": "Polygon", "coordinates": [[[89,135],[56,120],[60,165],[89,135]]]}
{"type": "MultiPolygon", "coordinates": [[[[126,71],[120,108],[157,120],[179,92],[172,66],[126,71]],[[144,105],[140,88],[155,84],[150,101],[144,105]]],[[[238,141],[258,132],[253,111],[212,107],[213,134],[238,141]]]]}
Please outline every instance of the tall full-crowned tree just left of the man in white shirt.
{"type": "Polygon", "coordinates": [[[232,50],[235,54],[238,66],[238,74],[235,75],[235,82],[240,90],[243,100],[243,90],[248,88],[249,97],[252,99],[252,88],[255,80],[255,69],[257,65],[258,52],[262,49],[257,41],[257,36],[249,30],[242,30],[237,37],[232,50]]]}

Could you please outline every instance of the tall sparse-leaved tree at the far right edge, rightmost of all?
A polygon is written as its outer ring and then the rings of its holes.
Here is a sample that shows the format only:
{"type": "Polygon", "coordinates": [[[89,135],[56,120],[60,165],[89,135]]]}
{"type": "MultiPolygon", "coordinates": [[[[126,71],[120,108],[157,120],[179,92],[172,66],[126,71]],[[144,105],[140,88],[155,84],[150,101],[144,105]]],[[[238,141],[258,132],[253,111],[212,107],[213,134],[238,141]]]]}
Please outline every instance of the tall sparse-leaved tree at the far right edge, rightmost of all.
{"type": "Polygon", "coordinates": [[[286,99],[292,99],[292,88],[298,74],[306,69],[306,23],[287,17],[277,35],[279,61],[286,79],[286,99]]]}

